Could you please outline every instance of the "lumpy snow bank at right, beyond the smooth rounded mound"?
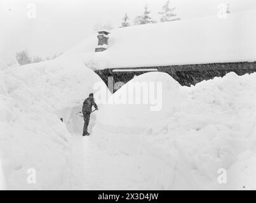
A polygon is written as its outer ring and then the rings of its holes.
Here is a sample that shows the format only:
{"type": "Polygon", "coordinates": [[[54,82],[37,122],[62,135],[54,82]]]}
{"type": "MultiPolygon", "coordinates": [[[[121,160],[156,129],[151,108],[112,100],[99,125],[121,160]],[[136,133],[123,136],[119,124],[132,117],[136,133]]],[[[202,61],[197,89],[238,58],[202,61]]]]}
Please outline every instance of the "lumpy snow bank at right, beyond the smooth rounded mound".
{"type": "Polygon", "coordinates": [[[156,147],[169,164],[177,155],[178,163],[189,169],[187,182],[191,177],[194,187],[208,183],[209,188],[255,189],[255,77],[230,73],[182,87],[179,110],[145,131],[150,150],[156,147]],[[227,170],[226,185],[217,184],[221,168],[227,170]]]}

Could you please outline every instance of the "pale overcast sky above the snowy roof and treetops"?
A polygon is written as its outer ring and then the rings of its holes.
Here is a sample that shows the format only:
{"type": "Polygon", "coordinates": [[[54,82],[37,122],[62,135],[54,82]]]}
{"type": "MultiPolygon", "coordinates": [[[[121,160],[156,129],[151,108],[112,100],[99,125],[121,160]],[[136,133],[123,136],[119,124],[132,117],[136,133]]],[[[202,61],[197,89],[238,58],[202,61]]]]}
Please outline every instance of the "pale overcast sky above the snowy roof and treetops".
{"type": "MultiPolygon", "coordinates": [[[[141,15],[148,4],[151,16],[166,0],[0,0],[0,57],[10,61],[17,51],[30,55],[52,56],[61,53],[93,34],[97,23],[119,27],[123,15],[130,22],[141,15]],[[30,4],[36,6],[36,18],[27,17],[30,4]]],[[[180,18],[217,15],[218,5],[229,3],[231,12],[256,8],[255,0],[171,0],[180,18]]]]}

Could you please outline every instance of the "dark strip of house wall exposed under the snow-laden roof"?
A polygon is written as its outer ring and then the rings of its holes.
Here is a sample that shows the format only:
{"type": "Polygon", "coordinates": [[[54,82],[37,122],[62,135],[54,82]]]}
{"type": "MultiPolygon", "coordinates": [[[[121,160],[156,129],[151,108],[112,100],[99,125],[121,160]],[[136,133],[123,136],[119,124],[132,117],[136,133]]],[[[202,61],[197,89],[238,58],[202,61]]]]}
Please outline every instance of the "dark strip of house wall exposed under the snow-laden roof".
{"type": "MultiPolygon", "coordinates": [[[[170,74],[182,86],[191,86],[203,80],[213,79],[213,77],[223,77],[228,72],[235,72],[238,75],[256,72],[256,62],[237,62],[237,63],[207,63],[192,65],[168,65],[158,67],[137,67],[138,69],[158,69],[159,72],[170,74]]],[[[131,69],[131,68],[122,68],[131,69]]],[[[133,68],[136,69],[136,68],[133,68]]],[[[108,77],[112,76],[114,82],[128,82],[134,75],[144,74],[141,72],[112,72],[114,69],[96,70],[95,72],[108,84],[108,77]]]]}

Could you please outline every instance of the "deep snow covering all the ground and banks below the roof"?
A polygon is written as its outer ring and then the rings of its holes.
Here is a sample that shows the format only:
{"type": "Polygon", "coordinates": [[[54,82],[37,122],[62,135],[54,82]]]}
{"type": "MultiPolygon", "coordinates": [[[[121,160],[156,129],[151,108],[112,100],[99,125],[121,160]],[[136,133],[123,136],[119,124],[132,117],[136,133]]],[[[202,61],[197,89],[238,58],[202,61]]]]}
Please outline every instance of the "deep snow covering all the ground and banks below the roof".
{"type": "Polygon", "coordinates": [[[256,187],[256,74],[231,72],[190,88],[165,73],[140,75],[130,82],[162,82],[161,110],[99,105],[91,115],[91,136],[82,137],[77,113],[98,76],[84,65],[65,65],[53,61],[1,72],[5,188],[256,187]],[[27,183],[29,168],[37,171],[34,185],[27,183]],[[217,182],[220,168],[227,171],[227,184],[217,182]]]}

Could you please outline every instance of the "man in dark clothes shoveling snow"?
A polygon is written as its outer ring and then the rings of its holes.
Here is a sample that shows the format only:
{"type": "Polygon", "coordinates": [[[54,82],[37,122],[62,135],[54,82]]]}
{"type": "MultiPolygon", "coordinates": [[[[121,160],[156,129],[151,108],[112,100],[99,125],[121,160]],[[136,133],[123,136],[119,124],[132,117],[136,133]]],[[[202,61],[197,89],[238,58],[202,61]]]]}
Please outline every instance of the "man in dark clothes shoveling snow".
{"type": "MultiPolygon", "coordinates": [[[[91,114],[91,107],[94,107],[95,110],[98,110],[98,106],[94,101],[93,93],[90,93],[89,97],[84,100],[83,103],[83,117],[84,117],[84,128],[83,128],[83,136],[89,136],[90,133],[88,133],[88,125],[90,122],[90,114],[91,114]]],[[[95,111],[93,110],[93,111],[95,111]]]]}

